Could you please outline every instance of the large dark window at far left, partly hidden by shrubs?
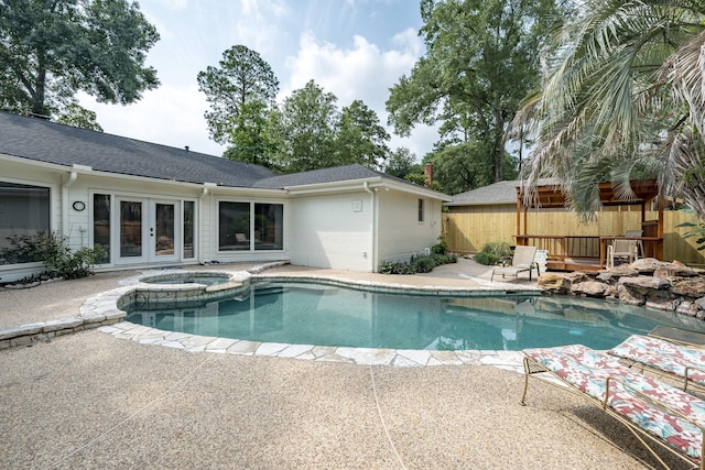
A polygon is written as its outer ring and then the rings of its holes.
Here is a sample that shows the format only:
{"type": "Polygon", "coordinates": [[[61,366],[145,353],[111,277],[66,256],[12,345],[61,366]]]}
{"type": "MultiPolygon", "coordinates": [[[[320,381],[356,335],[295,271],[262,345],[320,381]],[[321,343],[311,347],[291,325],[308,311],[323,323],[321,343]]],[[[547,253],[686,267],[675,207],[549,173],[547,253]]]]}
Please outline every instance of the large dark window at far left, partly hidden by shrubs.
{"type": "Polygon", "coordinates": [[[0,182],[0,264],[35,261],[21,241],[50,231],[50,189],[0,182]]]}

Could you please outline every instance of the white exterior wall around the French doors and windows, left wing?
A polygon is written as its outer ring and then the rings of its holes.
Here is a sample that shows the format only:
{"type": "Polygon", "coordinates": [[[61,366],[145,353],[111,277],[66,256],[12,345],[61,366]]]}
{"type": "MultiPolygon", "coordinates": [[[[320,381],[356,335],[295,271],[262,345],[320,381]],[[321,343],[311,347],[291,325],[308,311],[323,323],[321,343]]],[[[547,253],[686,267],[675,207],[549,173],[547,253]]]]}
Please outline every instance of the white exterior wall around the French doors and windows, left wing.
{"type": "MultiPolygon", "coordinates": [[[[117,198],[134,198],[139,200],[165,200],[182,203],[189,200],[195,203],[195,258],[183,259],[181,250],[177,252],[177,260],[166,262],[174,263],[195,263],[210,261],[270,261],[270,260],[288,260],[286,237],[283,251],[242,251],[236,253],[218,253],[217,240],[217,204],[219,200],[243,200],[258,203],[273,203],[284,205],[284,232],[288,231],[286,201],[280,197],[252,197],[251,190],[231,189],[231,188],[208,188],[204,195],[203,185],[176,184],[173,182],[160,182],[155,179],[144,178],[124,178],[111,177],[104,174],[93,174],[85,170],[76,172],[76,178],[72,182],[70,168],[43,167],[37,165],[18,164],[14,162],[0,162],[0,181],[32,185],[50,188],[50,230],[56,231],[68,238],[72,250],[82,247],[93,247],[93,197],[94,194],[109,194],[112,196],[112,211],[117,211],[117,198]],[[73,204],[82,201],[85,204],[84,210],[75,210],[73,204]]],[[[177,205],[177,230],[182,227],[183,206],[177,205]]],[[[8,214],[0,214],[0,217],[12,217],[9,212],[11,209],[0,208],[8,214]]],[[[111,240],[111,262],[106,265],[97,266],[97,271],[110,269],[135,267],[141,265],[153,265],[154,263],[145,263],[144,261],[135,261],[133,264],[130,260],[122,260],[121,264],[117,264],[118,243],[117,231],[113,219],[113,237],[111,240]]],[[[11,233],[0,233],[0,237],[8,237],[11,233]]],[[[181,240],[181,233],[177,234],[181,240]]],[[[181,243],[177,248],[181,248],[181,243]]],[[[12,282],[19,278],[41,272],[41,263],[23,263],[19,265],[0,265],[0,282],[12,282]]]]}

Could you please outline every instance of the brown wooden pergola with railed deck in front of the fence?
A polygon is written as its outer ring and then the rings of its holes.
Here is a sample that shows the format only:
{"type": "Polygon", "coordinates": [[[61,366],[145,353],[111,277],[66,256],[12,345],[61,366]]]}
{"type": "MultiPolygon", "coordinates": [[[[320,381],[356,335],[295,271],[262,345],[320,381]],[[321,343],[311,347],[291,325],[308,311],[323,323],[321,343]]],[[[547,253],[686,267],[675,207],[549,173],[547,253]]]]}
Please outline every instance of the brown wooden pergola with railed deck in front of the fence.
{"type": "MultiPolygon", "coordinates": [[[[647,220],[647,207],[655,199],[659,188],[655,179],[631,182],[633,196],[619,197],[611,183],[599,185],[599,197],[604,207],[640,206],[641,237],[625,234],[571,236],[565,233],[541,233],[542,228],[529,233],[529,212],[542,209],[566,209],[566,197],[556,184],[541,184],[532,190],[531,204],[524,204],[525,186],[517,187],[517,244],[533,245],[547,251],[547,269],[561,271],[599,271],[606,265],[607,245],[615,240],[639,240],[642,256],[663,258],[663,207],[658,207],[658,219],[647,220]],[[523,216],[522,216],[523,214],[523,216]],[[523,222],[523,223],[522,223],[523,222]],[[523,227],[522,227],[523,226],[523,227]]],[[[535,230],[535,229],[534,229],[535,230]]]]}

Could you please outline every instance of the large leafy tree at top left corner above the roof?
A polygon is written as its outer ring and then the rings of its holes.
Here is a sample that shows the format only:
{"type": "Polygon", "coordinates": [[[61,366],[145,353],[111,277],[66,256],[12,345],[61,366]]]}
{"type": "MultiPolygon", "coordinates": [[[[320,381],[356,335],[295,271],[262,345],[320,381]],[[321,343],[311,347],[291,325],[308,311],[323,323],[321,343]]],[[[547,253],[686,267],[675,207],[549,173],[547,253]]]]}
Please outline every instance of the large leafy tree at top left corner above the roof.
{"type": "Polygon", "coordinates": [[[0,107],[52,116],[78,90],[130,103],[159,86],[144,66],[156,29],[127,0],[0,2],[0,107]]]}

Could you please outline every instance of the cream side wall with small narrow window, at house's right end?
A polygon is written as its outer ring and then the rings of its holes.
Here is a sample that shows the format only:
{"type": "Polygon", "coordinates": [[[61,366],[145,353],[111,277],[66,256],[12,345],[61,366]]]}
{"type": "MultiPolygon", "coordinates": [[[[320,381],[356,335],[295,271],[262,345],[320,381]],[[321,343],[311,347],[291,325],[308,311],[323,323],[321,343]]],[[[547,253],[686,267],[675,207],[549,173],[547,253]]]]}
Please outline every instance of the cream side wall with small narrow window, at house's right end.
{"type": "Polygon", "coordinates": [[[398,190],[379,193],[378,264],[409,261],[438,242],[441,200],[398,190]],[[419,199],[424,199],[424,220],[419,221],[419,199]]]}

